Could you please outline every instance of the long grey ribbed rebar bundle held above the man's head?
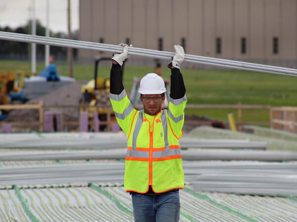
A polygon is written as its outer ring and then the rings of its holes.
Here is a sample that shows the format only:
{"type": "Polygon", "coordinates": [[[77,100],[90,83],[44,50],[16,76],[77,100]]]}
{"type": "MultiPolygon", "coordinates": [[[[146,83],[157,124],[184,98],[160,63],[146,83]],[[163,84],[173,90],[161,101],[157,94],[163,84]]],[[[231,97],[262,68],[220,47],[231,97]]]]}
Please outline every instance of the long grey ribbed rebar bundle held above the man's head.
{"type": "MultiPolygon", "coordinates": [[[[38,44],[48,44],[48,45],[61,46],[61,47],[91,49],[91,50],[99,50],[99,51],[112,52],[112,53],[121,53],[123,51],[123,47],[117,46],[117,45],[63,39],[63,38],[32,36],[32,35],[16,34],[16,33],[9,33],[9,32],[0,32],[0,39],[38,43],[38,44]]],[[[142,48],[136,48],[136,47],[129,47],[128,54],[146,56],[151,58],[166,59],[166,60],[170,60],[174,56],[173,52],[158,51],[158,50],[152,50],[152,49],[142,49],[142,48]]],[[[268,65],[255,64],[255,63],[247,63],[247,62],[241,62],[241,61],[217,59],[217,58],[188,55],[188,54],[185,55],[185,61],[190,63],[199,63],[199,64],[212,65],[212,66],[218,66],[223,68],[297,76],[296,69],[268,66],[268,65]]]]}

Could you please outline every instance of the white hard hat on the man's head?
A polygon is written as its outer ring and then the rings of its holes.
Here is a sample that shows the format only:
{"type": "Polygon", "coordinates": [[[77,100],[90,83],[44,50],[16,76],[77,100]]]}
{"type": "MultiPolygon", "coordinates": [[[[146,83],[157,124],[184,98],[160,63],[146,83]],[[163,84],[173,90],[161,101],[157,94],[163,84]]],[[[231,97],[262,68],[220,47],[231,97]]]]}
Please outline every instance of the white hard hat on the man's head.
{"type": "Polygon", "coordinates": [[[166,92],[164,80],[155,73],[149,73],[140,80],[140,94],[162,94],[166,92]]]}

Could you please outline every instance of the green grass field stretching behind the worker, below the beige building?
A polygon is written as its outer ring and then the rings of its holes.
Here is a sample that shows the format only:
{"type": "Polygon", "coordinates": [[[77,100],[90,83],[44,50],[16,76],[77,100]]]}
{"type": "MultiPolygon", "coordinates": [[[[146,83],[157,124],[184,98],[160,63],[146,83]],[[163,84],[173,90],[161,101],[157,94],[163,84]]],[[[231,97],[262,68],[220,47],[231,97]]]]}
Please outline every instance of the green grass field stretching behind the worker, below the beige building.
{"type": "MultiPolygon", "coordinates": [[[[37,64],[37,72],[44,68],[44,63],[37,64]]],[[[67,64],[57,65],[61,75],[67,75],[67,64]]],[[[0,61],[0,72],[7,70],[30,71],[30,62],[0,61]]],[[[170,79],[170,70],[162,69],[164,78],[170,79]]],[[[92,79],[94,66],[73,66],[74,77],[92,79]]],[[[100,66],[99,76],[108,77],[110,66],[100,66]]],[[[124,86],[130,91],[133,77],[142,77],[153,72],[149,67],[129,67],[124,70],[124,86]]],[[[246,71],[219,71],[219,70],[186,70],[182,69],[187,89],[189,104],[238,104],[243,105],[270,105],[297,106],[297,77],[277,74],[264,74],[246,71]]],[[[233,112],[237,119],[237,110],[234,109],[186,109],[188,115],[208,116],[226,121],[227,113],[233,112]]],[[[243,110],[242,121],[269,121],[268,110],[243,110]]]]}

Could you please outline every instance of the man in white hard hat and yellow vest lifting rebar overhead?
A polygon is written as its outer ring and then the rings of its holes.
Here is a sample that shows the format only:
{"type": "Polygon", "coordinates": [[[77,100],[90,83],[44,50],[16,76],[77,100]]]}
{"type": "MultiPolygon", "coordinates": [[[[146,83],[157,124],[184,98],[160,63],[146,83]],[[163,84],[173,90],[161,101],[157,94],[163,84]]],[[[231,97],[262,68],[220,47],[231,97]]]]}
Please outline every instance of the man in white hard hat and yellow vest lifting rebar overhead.
{"type": "MultiPolygon", "coordinates": [[[[182,137],[187,98],[180,73],[184,49],[175,45],[171,69],[168,110],[161,110],[165,84],[157,74],[147,74],[140,81],[139,93],[144,110],[137,111],[129,101],[121,79],[121,66],[128,57],[114,54],[110,71],[110,101],[116,119],[127,135],[124,186],[132,195],[136,222],[179,221],[179,189],[184,187],[184,173],[178,140],[182,137]]],[[[132,45],[130,45],[132,47],[132,45]]]]}

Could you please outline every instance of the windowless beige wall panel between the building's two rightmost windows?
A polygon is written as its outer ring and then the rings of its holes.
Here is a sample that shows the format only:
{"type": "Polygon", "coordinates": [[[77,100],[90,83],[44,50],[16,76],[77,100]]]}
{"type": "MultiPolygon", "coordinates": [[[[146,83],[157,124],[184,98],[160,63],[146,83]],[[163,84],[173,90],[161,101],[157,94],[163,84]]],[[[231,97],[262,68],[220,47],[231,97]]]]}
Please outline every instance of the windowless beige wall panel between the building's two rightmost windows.
{"type": "Polygon", "coordinates": [[[265,58],[264,0],[250,0],[250,58],[265,58]]]}

